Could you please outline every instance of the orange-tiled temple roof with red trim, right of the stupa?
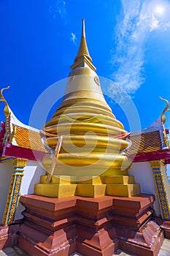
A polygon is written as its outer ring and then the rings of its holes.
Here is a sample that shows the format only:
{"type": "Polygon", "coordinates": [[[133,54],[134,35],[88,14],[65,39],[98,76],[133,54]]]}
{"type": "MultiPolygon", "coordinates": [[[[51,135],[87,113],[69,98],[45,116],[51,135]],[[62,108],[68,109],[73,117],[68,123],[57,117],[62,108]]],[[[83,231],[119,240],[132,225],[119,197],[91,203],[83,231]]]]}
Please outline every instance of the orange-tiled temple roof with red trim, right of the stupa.
{"type": "MultiPolygon", "coordinates": [[[[164,110],[163,110],[164,111],[164,110]]],[[[164,111],[165,112],[165,111],[164,111]]],[[[131,146],[125,151],[134,162],[150,161],[152,159],[169,159],[169,130],[164,127],[164,112],[149,127],[142,131],[131,132],[131,146]],[[163,155],[164,153],[166,155],[163,155]]]]}

